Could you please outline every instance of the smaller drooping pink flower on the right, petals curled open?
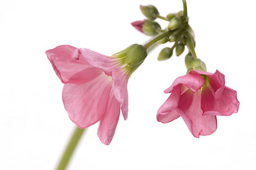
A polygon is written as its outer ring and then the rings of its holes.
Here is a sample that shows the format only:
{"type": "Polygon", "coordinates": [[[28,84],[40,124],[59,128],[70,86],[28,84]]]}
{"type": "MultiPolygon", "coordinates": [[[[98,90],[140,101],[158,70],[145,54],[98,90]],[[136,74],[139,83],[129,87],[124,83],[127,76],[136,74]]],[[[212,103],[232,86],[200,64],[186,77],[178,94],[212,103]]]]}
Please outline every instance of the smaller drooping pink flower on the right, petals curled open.
{"type": "Polygon", "coordinates": [[[157,120],[169,123],[181,116],[194,137],[217,129],[216,115],[238,113],[236,91],[225,86],[225,76],[192,70],[178,77],[165,93],[172,93],[157,111],[157,120]]]}

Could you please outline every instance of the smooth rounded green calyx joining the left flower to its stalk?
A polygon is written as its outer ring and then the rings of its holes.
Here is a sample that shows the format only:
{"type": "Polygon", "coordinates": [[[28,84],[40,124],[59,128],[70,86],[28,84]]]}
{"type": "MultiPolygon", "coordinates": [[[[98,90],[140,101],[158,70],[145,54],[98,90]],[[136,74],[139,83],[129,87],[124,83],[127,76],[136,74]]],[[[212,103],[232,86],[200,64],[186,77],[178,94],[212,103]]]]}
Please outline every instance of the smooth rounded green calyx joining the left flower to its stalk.
{"type": "Polygon", "coordinates": [[[128,48],[129,52],[126,55],[125,63],[128,64],[129,67],[136,69],[141,63],[143,63],[148,52],[143,45],[135,44],[130,45],[128,48]]]}

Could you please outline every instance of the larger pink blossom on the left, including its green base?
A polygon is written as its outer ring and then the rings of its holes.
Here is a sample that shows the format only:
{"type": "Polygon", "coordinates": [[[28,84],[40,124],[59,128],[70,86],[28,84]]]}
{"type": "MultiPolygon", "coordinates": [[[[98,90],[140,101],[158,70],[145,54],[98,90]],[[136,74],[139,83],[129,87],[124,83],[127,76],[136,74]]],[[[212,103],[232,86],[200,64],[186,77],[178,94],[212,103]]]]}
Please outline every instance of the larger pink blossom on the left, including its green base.
{"type": "Polygon", "coordinates": [[[97,133],[105,145],[110,144],[116,131],[120,109],[123,118],[128,117],[128,78],[146,57],[138,49],[143,51],[144,47],[131,45],[116,55],[106,56],[86,48],[60,45],[46,52],[65,84],[62,100],[69,118],[79,128],[99,122],[97,133]],[[140,61],[128,62],[133,55],[140,55],[140,61]]]}

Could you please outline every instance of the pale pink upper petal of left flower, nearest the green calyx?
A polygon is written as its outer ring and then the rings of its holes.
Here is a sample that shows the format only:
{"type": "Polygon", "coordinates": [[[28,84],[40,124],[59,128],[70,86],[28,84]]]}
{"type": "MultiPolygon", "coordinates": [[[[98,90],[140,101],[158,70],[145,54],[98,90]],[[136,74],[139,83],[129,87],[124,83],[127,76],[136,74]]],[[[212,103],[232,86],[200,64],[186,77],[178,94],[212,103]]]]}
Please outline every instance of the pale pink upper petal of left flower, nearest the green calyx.
{"type": "Polygon", "coordinates": [[[118,64],[115,58],[101,55],[87,48],[80,48],[79,52],[82,54],[84,60],[94,67],[103,69],[108,76],[111,76],[112,69],[118,64]]]}

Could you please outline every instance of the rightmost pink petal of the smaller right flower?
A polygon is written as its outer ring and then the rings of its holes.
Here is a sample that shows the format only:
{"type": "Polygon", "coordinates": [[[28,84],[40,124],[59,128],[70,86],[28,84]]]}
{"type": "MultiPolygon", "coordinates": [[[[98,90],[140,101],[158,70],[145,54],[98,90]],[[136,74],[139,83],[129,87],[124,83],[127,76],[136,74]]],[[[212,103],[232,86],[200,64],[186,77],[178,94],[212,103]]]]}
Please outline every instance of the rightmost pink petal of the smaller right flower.
{"type": "Polygon", "coordinates": [[[239,104],[236,91],[225,86],[221,98],[215,100],[211,110],[204,115],[232,115],[238,113],[239,104]]]}

